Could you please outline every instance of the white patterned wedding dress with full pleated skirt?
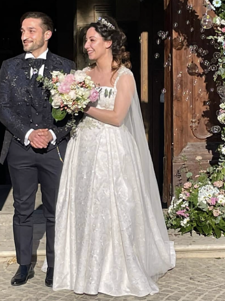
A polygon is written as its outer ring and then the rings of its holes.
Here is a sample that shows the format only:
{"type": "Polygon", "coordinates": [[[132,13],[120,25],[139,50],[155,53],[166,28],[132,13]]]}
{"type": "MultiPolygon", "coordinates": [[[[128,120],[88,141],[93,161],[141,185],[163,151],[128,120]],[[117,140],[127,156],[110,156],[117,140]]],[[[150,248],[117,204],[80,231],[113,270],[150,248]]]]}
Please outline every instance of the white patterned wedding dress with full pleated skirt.
{"type": "MultiPolygon", "coordinates": [[[[122,74],[133,76],[121,67],[114,87],[99,88],[96,107],[113,110],[122,74]]],[[[158,292],[155,281],[175,266],[176,256],[149,162],[146,185],[137,143],[125,123],[83,117],[61,175],[53,290],[139,297],[158,292]]]]}

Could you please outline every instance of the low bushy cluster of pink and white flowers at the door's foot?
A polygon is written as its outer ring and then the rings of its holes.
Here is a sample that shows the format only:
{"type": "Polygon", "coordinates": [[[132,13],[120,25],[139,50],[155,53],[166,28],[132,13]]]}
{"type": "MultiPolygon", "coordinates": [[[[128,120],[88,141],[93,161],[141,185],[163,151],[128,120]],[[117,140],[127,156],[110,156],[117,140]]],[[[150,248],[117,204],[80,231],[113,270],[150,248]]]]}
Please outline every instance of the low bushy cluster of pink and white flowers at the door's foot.
{"type": "Polygon", "coordinates": [[[225,234],[225,160],[221,158],[219,165],[203,170],[202,157],[195,159],[199,173],[193,179],[186,165],[187,157],[183,156],[187,182],[176,189],[176,198],[165,215],[166,225],[180,229],[182,234],[196,231],[219,238],[225,234]]]}

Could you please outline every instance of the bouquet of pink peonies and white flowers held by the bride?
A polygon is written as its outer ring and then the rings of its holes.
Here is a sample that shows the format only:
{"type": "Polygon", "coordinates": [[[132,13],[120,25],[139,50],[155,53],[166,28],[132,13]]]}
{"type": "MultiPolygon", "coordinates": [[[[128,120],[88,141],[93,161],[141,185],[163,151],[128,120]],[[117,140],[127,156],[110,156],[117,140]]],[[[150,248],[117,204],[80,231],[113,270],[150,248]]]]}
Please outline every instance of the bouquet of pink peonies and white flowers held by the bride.
{"type": "Polygon", "coordinates": [[[97,101],[99,97],[95,84],[82,70],[71,70],[69,74],[62,71],[52,71],[52,78],[38,76],[37,80],[43,83],[51,96],[52,116],[58,121],[67,113],[78,115],[89,102],[97,101]]]}

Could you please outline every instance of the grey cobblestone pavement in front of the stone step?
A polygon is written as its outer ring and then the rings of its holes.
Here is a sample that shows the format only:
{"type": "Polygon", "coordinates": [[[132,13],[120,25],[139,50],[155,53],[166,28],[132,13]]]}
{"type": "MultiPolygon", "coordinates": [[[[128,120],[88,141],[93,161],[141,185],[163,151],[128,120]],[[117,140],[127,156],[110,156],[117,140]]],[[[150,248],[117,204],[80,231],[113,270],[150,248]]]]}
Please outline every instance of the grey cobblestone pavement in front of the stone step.
{"type": "Polygon", "coordinates": [[[160,293],[138,298],[76,295],[70,290],[53,292],[44,285],[42,262],[35,266],[35,277],[25,285],[13,287],[10,279],[17,264],[0,264],[1,301],[225,301],[225,259],[177,259],[176,268],[158,280],[160,293]]]}

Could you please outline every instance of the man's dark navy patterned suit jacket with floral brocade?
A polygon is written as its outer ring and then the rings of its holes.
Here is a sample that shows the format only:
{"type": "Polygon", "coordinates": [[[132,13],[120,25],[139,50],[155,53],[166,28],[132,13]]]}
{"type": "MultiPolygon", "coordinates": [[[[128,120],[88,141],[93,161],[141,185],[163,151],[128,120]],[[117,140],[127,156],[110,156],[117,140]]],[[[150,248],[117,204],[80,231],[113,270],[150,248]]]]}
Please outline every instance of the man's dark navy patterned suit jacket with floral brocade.
{"type": "MultiPolygon", "coordinates": [[[[50,51],[47,52],[44,76],[51,77],[50,72],[54,70],[70,73],[71,69],[75,69],[73,61],[50,51]]],[[[25,135],[31,129],[31,89],[29,63],[25,60],[25,53],[2,63],[0,70],[0,121],[6,127],[6,131],[0,157],[1,164],[7,157],[12,138],[24,144],[25,135]]],[[[70,133],[71,128],[65,126],[68,119],[64,118],[55,122],[51,114],[49,91],[44,91],[43,98],[38,99],[37,102],[35,105],[42,107],[43,128],[53,130],[57,138],[57,146],[70,133]]]]}

